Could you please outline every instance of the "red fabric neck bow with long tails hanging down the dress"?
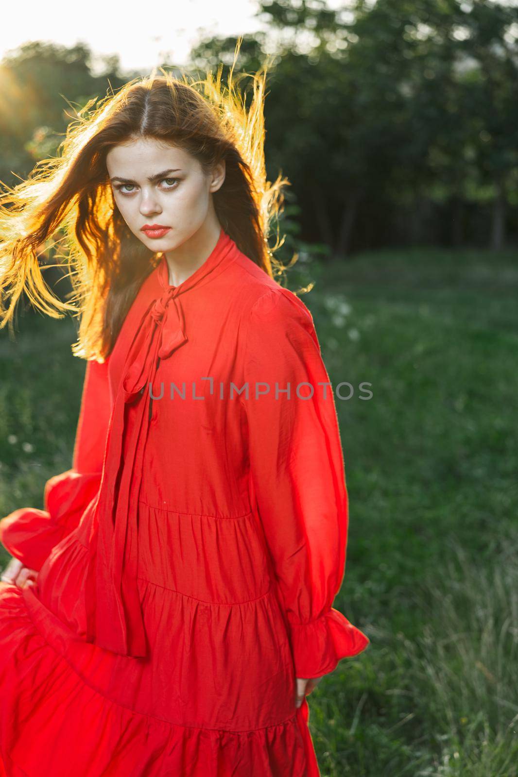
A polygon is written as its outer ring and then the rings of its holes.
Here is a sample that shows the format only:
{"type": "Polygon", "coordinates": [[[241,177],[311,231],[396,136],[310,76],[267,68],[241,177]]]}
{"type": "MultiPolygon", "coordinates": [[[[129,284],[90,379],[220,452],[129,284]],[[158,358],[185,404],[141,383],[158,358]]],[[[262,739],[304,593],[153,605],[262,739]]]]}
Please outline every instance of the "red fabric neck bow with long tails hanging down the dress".
{"type": "Polygon", "coordinates": [[[169,287],[148,308],[128,352],[117,392],[103,465],[105,483],[96,502],[93,550],[86,576],[86,641],[135,657],[147,648],[138,598],[138,499],[131,484],[140,483],[143,445],[138,441],[149,423],[149,392],[159,359],[187,342],[180,287],[169,287]],[[124,439],[124,415],[138,400],[135,418],[124,439]],[[123,461],[124,459],[124,461],[123,461]]]}

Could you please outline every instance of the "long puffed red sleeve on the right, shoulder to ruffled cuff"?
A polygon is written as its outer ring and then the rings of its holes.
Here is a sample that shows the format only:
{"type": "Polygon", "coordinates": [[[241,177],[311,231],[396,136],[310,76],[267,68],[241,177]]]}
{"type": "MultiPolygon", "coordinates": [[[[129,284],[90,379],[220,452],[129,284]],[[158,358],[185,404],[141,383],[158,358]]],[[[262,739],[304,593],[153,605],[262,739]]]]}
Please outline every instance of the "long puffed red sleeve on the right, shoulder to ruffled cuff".
{"type": "Polygon", "coordinates": [[[345,573],[344,460],[313,317],[288,289],[271,289],[251,308],[244,370],[252,490],[296,677],[317,678],[369,639],[331,606],[345,573]]]}

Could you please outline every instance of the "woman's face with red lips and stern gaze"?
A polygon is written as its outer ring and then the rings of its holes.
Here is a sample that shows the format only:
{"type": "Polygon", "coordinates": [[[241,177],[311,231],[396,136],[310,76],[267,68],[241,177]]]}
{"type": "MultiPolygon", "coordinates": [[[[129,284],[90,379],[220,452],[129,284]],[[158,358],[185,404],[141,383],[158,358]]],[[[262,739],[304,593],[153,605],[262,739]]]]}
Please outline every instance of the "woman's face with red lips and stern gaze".
{"type": "Polygon", "coordinates": [[[114,146],[107,154],[107,170],[115,203],[131,232],[153,252],[163,253],[215,218],[210,195],[225,179],[224,163],[206,176],[191,154],[156,138],[114,146]]]}

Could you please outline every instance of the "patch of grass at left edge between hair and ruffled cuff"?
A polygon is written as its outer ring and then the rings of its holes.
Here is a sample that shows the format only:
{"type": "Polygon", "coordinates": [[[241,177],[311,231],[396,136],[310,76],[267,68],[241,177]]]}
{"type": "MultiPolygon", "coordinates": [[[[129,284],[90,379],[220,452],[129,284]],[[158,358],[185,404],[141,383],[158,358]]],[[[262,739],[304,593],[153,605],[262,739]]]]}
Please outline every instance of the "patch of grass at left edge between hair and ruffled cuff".
{"type": "Polygon", "coordinates": [[[45,480],[72,466],[86,368],[72,356],[75,337],[72,319],[39,314],[20,315],[14,339],[0,332],[2,515],[43,507],[45,480]]]}

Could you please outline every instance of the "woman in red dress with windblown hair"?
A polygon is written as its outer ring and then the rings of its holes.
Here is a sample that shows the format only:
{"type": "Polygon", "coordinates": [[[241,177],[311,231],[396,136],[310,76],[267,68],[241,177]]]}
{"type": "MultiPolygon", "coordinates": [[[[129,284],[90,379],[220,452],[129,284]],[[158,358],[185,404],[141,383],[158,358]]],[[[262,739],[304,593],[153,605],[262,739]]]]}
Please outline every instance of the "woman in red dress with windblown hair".
{"type": "Polygon", "coordinates": [[[248,111],[220,75],[87,106],[2,208],[3,322],[79,309],[87,360],[72,469],[0,521],[9,777],[319,775],[306,694],[369,642],[331,607],[343,458],[266,242],[265,71],[248,111]],[[37,265],[59,227],[79,308],[37,265]]]}

